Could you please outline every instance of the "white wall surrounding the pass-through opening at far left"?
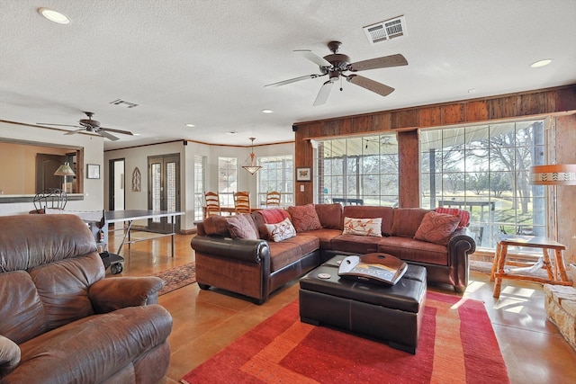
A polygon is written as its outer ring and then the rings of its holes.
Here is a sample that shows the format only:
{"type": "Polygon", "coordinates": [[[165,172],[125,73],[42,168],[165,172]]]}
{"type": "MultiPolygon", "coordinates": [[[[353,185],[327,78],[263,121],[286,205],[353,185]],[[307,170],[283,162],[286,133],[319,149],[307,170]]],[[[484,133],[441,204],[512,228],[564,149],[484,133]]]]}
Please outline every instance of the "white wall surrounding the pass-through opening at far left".
{"type": "MultiPolygon", "coordinates": [[[[88,134],[76,134],[64,136],[64,131],[57,129],[44,129],[34,126],[21,124],[11,124],[0,121],[0,139],[26,140],[39,143],[39,145],[65,145],[73,147],[84,147],[84,164],[81,165],[86,169],[86,164],[100,165],[100,179],[84,180],[84,200],[68,201],[67,210],[103,210],[103,138],[88,134]]],[[[9,165],[15,159],[4,158],[0,154],[0,160],[3,166],[9,165]]],[[[0,174],[3,172],[0,167],[0,174]]],[[[32,203],[33,195],[30,196],[30,202],[12,202],[3,203],[2,199],[9,197],[3,195],[0,198],[0,215],[15,215],[28,213],[34,209],[32,203]]]]}

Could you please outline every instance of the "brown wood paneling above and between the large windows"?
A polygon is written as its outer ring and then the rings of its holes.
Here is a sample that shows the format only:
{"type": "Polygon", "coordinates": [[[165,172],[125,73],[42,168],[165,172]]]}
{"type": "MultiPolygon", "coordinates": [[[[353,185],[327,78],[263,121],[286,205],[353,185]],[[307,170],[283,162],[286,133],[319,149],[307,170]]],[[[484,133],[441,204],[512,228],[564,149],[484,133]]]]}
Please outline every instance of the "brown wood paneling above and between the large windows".
{"type": "MultiPolygon", "coordinates": [[[[400,206],[419,206],[418,129],[478,124],[488,121],[563,116],[576,112],[576,85],[547,88],[482,99],[439,103],[401,110],[366,113],[323,121],[294,123],[294,167],[313,166],[311,138],[376,134],[398,130],[400,150],[400,206]]],[[[556,123],[556,129],[576,129],[573,119],[556,123]]],[[[573,149],[572,149],[573,153],[573,149]]],[[[313,201],[311,183],[295,183],[296,204],[313,201]],[[304,191],[301,192],[301,186],[304,191]]]]}

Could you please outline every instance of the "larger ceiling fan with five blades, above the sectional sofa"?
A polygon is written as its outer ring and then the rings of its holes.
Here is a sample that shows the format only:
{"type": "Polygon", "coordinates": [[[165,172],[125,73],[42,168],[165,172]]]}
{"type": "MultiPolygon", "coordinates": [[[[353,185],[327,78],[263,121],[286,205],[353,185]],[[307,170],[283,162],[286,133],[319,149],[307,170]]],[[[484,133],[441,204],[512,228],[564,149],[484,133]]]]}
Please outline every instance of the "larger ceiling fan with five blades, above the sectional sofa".
{"type": "MultiPolygon", "coordinates": [[[[338,80],[341,80],[340,76],[346,78],[348,82],[359,85],[376,94],[387,96],[394,92],[394,88],[392,88],[392,86],[383,85],[382,83],[378,83],[377,81],[371,80],[365,76],[359,76],[355,74],[346,75],[345,72],[357,72],[367,69],[407,66],[408,61],[406,58],[404,58],[401,54],[397,54],[384,56],[382,58],[371,58],[364,61],[358,61],[357,63],[350,63],[350,58],[347,55],[338,53],[340,45],[342,45],[340,41],[330,41],[328,43],[328,48],[332,51],[332,54],[325,56],[324,58],[320,58],[320,56],[309,49],[294,50],[294,52],[301,54],[304,58],[308,58],[311,60],[311,62],[318,64],[320,66],[320,74],[295,77],[265,86],[287,85],[309,78],[329,76],[329,80],[326,81],[320,88],[320,92],[318,96],[316,96],[314,105],[321,105],[326,103],[330,94],[330,90],[332,89],[332,85],[334,85],[334,83],[336,83],[338,80]]],[[[340,87],[340,91],[342,91],[342,87],[340,87]]]]}

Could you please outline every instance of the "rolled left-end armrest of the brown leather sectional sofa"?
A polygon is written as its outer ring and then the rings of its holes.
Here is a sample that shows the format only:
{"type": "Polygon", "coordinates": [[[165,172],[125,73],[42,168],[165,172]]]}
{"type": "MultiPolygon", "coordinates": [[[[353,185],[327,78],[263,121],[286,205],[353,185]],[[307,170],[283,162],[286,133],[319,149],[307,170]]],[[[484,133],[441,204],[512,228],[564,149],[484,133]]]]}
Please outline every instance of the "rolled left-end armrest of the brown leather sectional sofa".
{"type": "Polygon", "coordinates": [[[270,247],[266,240],[247,240],[229,237],[200,237],[192,238],[190,242],[193,250],[207,255],[216,255],[220,258],[238,260],[245,263],[263,263],[270,258],[270,247]]]}

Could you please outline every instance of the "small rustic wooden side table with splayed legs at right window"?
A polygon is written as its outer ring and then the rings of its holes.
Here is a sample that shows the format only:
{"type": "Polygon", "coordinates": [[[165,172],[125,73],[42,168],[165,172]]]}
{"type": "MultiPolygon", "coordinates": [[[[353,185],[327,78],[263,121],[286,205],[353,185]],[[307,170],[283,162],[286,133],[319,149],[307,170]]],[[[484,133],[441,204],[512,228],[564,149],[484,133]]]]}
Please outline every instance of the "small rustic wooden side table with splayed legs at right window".
{"type": "MultiPolygon", "coordinates": [[[[494,298],[500,298],[500,289],[503,279],[536,281],[548,284],[572,285],[568,280],[566,267],[564,265],[563,251],[566,246],[547,237],[519,236],[519,235],[500,235],[496,237],[496,255],[492,263],[491,281],[494,283],[494,298]],[[509,246],[526,246],[530,248],[542,249],[542,256],[538,257],[535,263],[520,263],[507,260],[509,246]],[[554,265],[550,263],[548,250],[554,250],[554,265]],[[542,264],[542,268],[548,274],[548,278],[531,276],[529,272],[511,274],[505,270],[506,266],[530,267],[536,264],[542,264]]],[[[529,268],[528,268],[529,269],[529,268]]]]}

